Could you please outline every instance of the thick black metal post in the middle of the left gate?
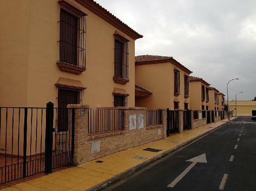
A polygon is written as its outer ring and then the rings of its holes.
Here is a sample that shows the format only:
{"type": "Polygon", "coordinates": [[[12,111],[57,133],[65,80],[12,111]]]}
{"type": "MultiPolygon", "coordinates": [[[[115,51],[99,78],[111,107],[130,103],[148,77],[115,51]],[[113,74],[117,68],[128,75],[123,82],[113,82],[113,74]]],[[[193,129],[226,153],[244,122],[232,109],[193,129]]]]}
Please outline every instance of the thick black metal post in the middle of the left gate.
{"type": "Polygon", "coordinates": [[[52,172],[52,128],[53,128],[53,103],[46,104],[45,127],[45,173],[52,172]]]}

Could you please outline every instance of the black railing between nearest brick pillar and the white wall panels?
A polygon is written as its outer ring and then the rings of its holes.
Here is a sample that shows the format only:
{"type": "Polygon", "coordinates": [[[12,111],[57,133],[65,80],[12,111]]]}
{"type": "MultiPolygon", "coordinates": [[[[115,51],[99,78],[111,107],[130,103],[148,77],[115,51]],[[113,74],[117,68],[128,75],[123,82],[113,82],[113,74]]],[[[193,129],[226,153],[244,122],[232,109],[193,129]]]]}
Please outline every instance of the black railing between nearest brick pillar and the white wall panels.
{"type": "Polygon", "coordinates": [[[88,109],[88,133],[123,129],[122,109],[88,109]]]}

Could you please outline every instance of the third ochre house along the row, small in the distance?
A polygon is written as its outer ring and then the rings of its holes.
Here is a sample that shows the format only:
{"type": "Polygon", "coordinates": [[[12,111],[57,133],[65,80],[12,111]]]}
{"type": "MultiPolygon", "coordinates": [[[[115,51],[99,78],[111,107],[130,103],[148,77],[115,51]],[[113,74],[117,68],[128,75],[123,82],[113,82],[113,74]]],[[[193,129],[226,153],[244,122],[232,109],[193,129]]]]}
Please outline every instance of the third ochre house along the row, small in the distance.
{"type": "Polygon", "coordinates": [[[210,84],[202,78],[189,76],[190,109],[208,110],[210,84]]]}

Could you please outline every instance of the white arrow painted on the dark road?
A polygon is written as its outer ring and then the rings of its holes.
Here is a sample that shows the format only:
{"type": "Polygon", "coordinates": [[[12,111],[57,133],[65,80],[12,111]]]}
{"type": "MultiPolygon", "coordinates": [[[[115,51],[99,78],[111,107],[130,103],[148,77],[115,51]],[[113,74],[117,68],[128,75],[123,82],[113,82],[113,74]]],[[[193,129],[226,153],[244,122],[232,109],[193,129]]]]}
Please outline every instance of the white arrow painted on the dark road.
{"type": "Polygon", "coordinates": [[[192,162],[177,178],[175,178],[167,187],[174,187],[194,166],[197,162],[207,163],[206,154],[198,155],[197,157],[186,160],[192,162]]]}

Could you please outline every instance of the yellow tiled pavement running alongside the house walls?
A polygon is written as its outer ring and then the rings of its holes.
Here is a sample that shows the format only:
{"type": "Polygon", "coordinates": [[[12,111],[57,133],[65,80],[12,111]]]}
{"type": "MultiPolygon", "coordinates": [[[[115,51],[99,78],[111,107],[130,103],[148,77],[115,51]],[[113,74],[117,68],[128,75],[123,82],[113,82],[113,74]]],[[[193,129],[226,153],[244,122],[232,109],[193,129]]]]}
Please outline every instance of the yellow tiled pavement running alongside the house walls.
{"type": "MultiPolygon", "coordinates": [[[[235,117],[232,117],[233,120],[235,117]]],[[[147,144],[143,144],[131,149],[113,153],[111,155],[98,158],[97,160],[104,161],[97,163],[92,160],[86,164],[79,165],[77,167],[70,167],[61,171],[50,173],[48,175],[28,180],[11,187],[7,187],[3,190],[17,191],[37,191],[37,190],[69,190],[69,191],[84,191],[90,189],[113,178],[114,176],[132,168],[136,165],[150,160],[151,158],[160,155],[161,153],[168,151],[180,144],[189,141],[199,135],[202,135],[208,131],[212,131],[214,128],[227,122],[227,119],[218,121],[215,123],[207,124],[183,133],[172,135],[168,138],[156,140],[147,144]],[[143,151],[145,148],[161,149],[162,151],[154,153],[149,151],[143,151]],[[147,157],[145,160],[135,159],[135,156],[147,157]]]]}

